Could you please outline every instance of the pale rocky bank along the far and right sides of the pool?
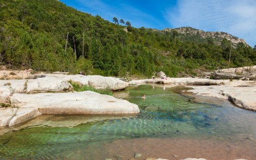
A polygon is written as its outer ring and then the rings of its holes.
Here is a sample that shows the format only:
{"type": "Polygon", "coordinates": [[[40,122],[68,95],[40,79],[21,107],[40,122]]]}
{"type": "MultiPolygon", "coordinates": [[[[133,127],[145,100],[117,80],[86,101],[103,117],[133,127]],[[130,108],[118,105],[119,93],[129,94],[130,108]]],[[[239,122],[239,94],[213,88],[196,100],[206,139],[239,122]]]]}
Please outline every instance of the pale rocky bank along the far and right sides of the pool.
{"type": "Polygon", "coordinates": [[[192,97],[208,96],[225,99],[246,110],[256,111],[256,81],[255,80],[212,80],[208,78],[155,78],[133,80],[129,85],[141,84],[183,85],[189,90],[181,92],[192,97]],[[193,94],[191,94],[193,93],[193,94]]]}

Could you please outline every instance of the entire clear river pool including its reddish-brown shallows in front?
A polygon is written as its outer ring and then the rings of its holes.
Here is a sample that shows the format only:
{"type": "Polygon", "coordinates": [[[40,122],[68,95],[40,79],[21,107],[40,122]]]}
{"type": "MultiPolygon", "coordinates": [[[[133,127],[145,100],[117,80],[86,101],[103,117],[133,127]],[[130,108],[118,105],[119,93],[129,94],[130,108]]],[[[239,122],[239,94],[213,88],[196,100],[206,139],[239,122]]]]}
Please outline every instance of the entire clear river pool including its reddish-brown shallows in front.
{"type": "Polygon", "coordinates": [[[69,124],[65,122],[69,116],[46,117],[44,122],[40,116],[39,122],[31,120],[23,130],[1,136],[4,144],[1,151],[9,159],[251,160],[254,157],[256,132],[252,111],[241,110],[229,102],[225,105],[225,100],[222,107],[191,103],[193,99],[174,92],[179,87],[157,86],[134,86],[120,91],[127,92],[130,102],[141,106],[137,116],[107,117],[106,120],[100,117],[99,121],[88,118],[88,122],[84,121],[87,117],[82,117],[81,121],[74,116],[69,124]],[[144,92],[147,99],[141,100],[144,92]]]}

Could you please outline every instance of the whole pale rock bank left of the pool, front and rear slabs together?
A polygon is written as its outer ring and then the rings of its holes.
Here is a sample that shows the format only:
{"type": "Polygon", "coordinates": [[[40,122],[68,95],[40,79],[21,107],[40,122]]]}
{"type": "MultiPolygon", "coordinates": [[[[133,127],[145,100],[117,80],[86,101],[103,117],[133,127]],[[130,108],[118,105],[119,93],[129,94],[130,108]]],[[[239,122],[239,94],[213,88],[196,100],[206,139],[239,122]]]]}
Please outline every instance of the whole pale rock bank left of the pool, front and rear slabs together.
{"type": "MultiPolygon", "coordinates": [[[[37,76],[38,77],[38,76],[37,76]]],[[[138,105],[92,91],[76,92],[69,82],[96,89],[128,86],[100,75],[44,74],[41,78],[0,80],[0,127],[15,126],[41,114],[137,114],[138,105]]]]}

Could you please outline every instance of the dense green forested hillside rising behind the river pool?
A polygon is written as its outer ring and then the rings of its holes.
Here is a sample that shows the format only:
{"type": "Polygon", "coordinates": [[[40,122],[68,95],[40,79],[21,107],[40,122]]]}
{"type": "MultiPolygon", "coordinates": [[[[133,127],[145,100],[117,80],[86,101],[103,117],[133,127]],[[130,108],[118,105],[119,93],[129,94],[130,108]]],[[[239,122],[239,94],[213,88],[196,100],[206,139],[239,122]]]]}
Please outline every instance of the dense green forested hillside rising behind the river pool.
{"type": "Polygon", "coordinates": [[[0,65],[34,71],[170,77],[256,64],[256,47],[113,23],[55,0],[0,1],[0,65]],[[181,38],[182,37],[182,38],[181,38]]]}

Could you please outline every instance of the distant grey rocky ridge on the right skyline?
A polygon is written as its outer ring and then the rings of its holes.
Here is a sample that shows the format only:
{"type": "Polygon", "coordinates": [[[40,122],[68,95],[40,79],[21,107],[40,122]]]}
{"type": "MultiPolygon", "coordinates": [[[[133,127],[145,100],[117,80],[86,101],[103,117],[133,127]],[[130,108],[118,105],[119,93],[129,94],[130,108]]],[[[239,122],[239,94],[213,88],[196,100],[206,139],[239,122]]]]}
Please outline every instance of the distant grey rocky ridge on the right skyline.
{"type": "Polygon", "coordinates": [[[244,39],[240,39],[226,32],[205,32],[204,30],[194,29],[192,27],[179,27],[176,29],[166,28],[163,31],[171,32],[172,30],[176,30],[178,33],[188,37],[196,36],[202,39],[212,38],[215,40],[216,44],[221,44],[221,41],[226,38],[231,42],[232,46],[237,46],[238,43],[243,43],[245,46],[249,46],[244,39]]]}

